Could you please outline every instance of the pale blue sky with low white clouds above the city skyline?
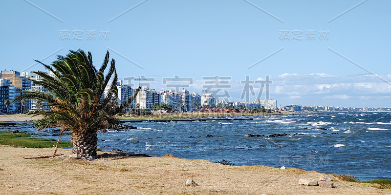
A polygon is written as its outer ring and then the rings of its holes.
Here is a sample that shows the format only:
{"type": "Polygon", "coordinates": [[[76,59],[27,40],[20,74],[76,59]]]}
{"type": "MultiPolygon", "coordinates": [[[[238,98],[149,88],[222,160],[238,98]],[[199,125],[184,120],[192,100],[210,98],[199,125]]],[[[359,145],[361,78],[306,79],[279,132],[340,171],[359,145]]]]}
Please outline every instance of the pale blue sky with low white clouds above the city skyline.
{"type": "MultiPolygon", "coordinates": [[[[244,101],[240,81],[269,75],[278,104],[390,106],[389,0],[7,0],[0,7],[2,70],[42,69],[33,59],[50,63],[78,48],[99,66],[109,50],[119,78],[154,78],[157,90],[168,89],[162,78],[178,75],[201,93],[203,77],[218,75],[231,78],[223,89],[229,100],[244,101]],[[65,30],[69,39],[60,37],[65,30]]],[[[253,87],[250,101],[260,84],[253,87]]]]}

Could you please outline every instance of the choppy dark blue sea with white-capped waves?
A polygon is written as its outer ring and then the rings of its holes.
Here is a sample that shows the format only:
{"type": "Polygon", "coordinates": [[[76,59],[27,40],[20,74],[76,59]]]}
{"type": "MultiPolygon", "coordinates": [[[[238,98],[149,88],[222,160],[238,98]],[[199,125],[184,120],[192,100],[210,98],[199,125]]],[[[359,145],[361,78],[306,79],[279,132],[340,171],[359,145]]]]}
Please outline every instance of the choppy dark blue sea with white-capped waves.
{"type": "MultiPolygon", "coordinates": [[[[98,146],[102,150],[120,149],[150,156],[173,154],[189,159],[231,160],[237,165],[351,174],[360,180],[391,178],[390,113],[331,112],[251,118],[254,119],[125,123],[137,129],[98,133],[98,146]],[[290,136],[245,137],[276,133],[290,136]]],[[[32,125],[0,128],[36,131],[32,125]]],[[[52,134],[46,131],[37,137],[57,139],[52,134]]]]}

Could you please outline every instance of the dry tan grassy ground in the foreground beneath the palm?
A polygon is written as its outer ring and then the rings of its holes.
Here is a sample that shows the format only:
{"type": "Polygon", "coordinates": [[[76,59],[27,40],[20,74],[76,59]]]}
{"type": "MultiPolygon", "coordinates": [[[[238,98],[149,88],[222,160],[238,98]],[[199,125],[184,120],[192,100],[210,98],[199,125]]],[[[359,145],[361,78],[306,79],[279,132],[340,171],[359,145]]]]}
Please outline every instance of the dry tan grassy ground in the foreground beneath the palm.
{"type": "MultiPolygon", "coordinates": [[[[0,194],[127,195],[382,195],[390,189],[332,181],[335,188],[302,186],[299,178],[319,173],[265,166],[224,166],[207,160],[176,157],[69,160],[70,150],[0,147],[0,194]],[[198,186],[186,186],[192,178],[198,186]]],[[[102,153],[102,152],[100,152],[102,153]]]]}

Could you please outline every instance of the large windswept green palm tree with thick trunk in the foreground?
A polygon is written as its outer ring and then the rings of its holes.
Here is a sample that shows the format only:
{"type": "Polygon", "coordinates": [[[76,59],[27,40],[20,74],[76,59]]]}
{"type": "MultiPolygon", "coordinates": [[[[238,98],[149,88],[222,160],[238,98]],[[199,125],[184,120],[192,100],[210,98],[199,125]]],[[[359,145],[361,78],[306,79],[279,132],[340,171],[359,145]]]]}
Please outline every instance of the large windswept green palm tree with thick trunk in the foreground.
{"type": "MultiPolygon", "coordinates": [[[[99,70],[92,64],[91,53],[86,54],[80,49],[69,51],[65,57],[57,56],[57,60],[50,65],[35,61],[55,75],[51,77],[42,71],[33,72],[43,78],[42,81],[34,82],[42,85],[48,92],[23,90],[23,95],[14,101],[35,98],[47,102],[49,110],[37,109],[27,113],[43,116],[34,120],[35,127],[38,130],[60,127],[61,133],[69,129],[72,131],[72,154],[85,158],[96,156],[97,132],[119,125],[115,115],[125,114],[125,108],[131,104],[140,87],[131,98],[121,104],[117,103],[117,73],[114,59],[111,59],[109,70],[106,76],[104,75],[109,62],[109,51],[99,70]],[[110,79],[112,81],[109,84],[110,79]],[[108,84],[110,88],[105,94],[105,87],[108,84]]],[[[57,143],[60,139],[61,134],[57,143]]]]}

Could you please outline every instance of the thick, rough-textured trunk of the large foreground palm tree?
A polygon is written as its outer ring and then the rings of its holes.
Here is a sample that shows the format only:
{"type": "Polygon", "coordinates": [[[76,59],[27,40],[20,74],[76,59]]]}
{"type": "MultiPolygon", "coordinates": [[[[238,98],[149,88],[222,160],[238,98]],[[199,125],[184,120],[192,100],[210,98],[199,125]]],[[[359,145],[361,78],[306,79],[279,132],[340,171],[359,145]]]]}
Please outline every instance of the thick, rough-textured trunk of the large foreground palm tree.
{"type": "Polygon", "coordinates": [[[72,154],[77,154],[79,157],[96,157],[96,145],[98,137],[96,132],[88,133],[73,133],[72,142],[73,142],[73,152],[72,154]]]}

